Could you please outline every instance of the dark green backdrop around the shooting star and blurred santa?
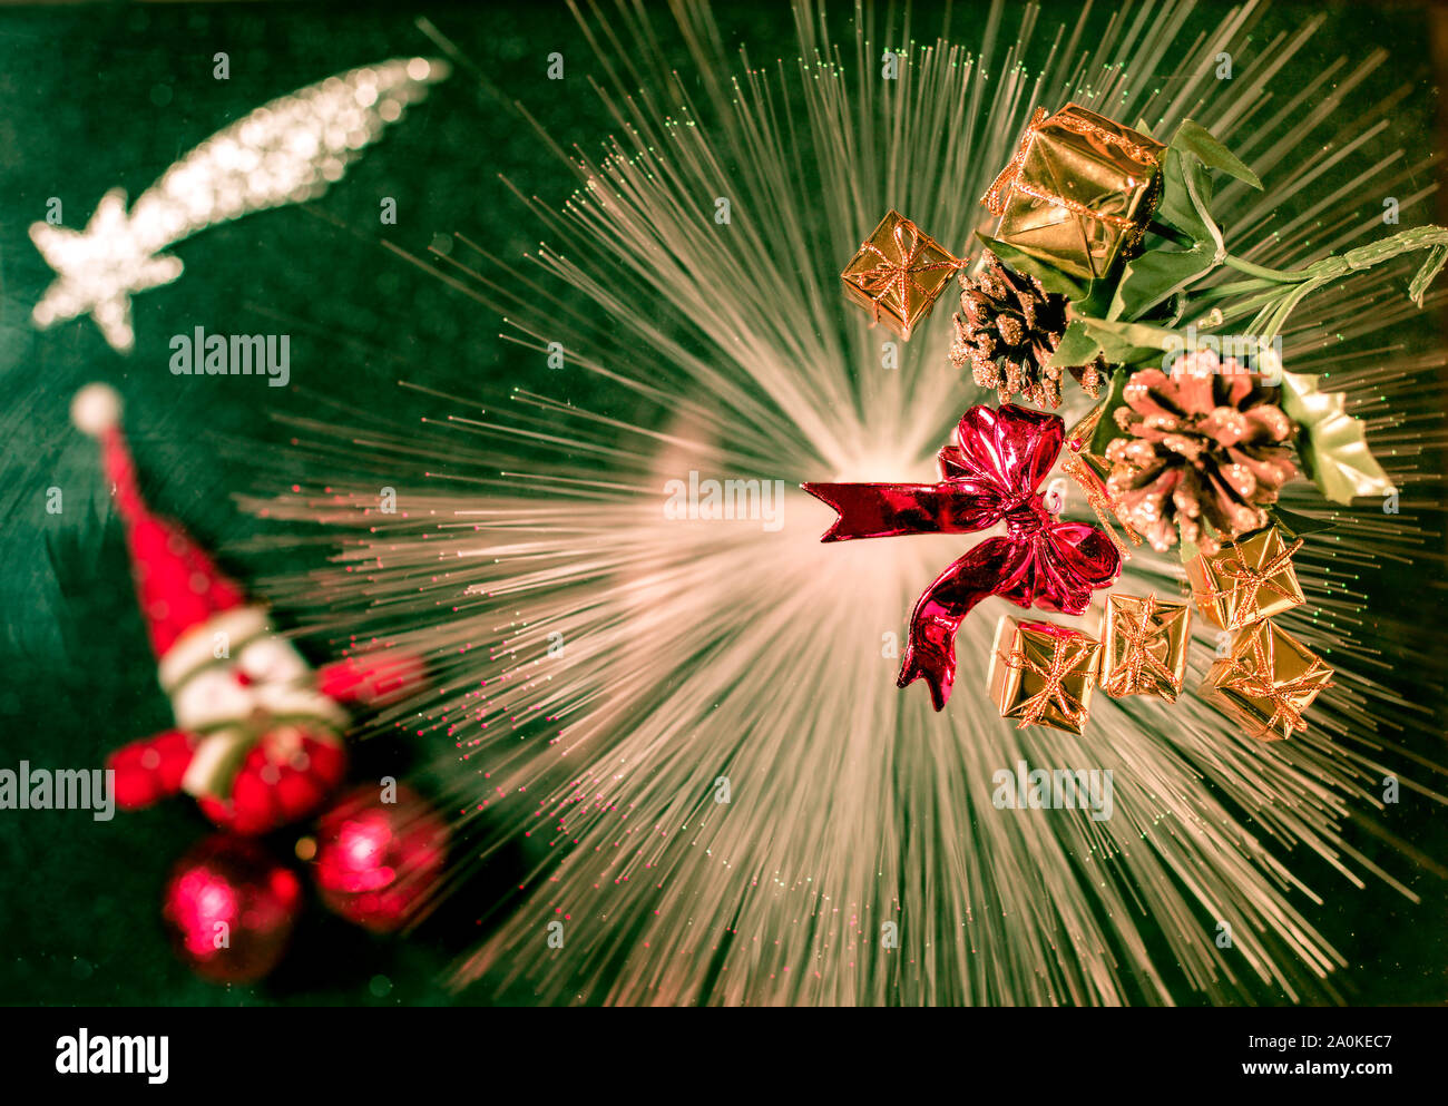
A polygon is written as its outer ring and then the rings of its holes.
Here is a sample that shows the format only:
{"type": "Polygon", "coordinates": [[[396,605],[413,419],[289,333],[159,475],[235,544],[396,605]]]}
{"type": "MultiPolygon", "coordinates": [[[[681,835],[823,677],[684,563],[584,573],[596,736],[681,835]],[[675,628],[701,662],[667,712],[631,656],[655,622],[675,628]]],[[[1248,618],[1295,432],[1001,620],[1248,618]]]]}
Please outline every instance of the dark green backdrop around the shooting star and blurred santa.
{"type": "MultiPolygon", "coordinates": [[[[1066,9],[1073,16],[1074,4],[1066,9]]],[[[1283,6],[1267,23],[1295,29],[1318,10],[1283,6]]],[[[837,19],[846,16],[841,9],[837,19]]],[[[660,10],[657,22],[668,25],[668,13],[660,10]]],[[[734,6],[720,22],[725,41],[747,42],[753,58],[789,54],[794,30],[783,4],[734,6]]],[[[969,9],[957,28],[969,33],[969,9]]],[[[1374,80],[1384,88],[1413,83],[1418,91],[1381,145],[1420,151],[1436,110],[1428,17],[1412,7],[1335,7],[1316,41],[1316,52],[1295,59],[1281,80],[1306,80],[1328,54],[1357,58],[1389,46],[1392,72],[1374,80]]],[[[595,68],[572,17],[553,3],[421,12],[392,4],[0,10],[0,767],[22,759],[36,767],[97,764],[116,746],[171,722],[94,449],[68,426],[70,398],[83,384],[104,379],[123,392],[148,497],[222,550],[242,581],[285,567],[275,554],[243,549],[258,524],[232,498],[290,482],[277,460],[248,462],[285,442],[274,421],[279,414],[319,414],[334,401],[395,417],[403,427],[426,410],[395,388],[403,376],[462,395],[533,387],[615,410],[614,397],[566,369],[544,376],[540,356],[498,339],[489,311],[379,245],[385,239],[421,253],[437,235],[458,230],[507,259],[534,248],[537,230],[498,174],[549,203],[563,200],[573,178],[507,100],[524,103],[565,149],[573,142],[597,149],[610,122],[586,84],[595,68]],[[182,242],[174,250],[185,262],[181,279],[133,301],[132,356],[114,353],[88,318],[33,330],[29,311],[51,272],[26,227],[43,217],[51,197],[64,203],[68,226],[81,226],[106,190],[122,185],[135,198],[207,135],[266,100],[356,65],[436,54],[416,14],[453,39],[485,81],[459,71],[436,87],[321,198],[182,242]],[[211,75],[219,51],[230,56],[226,81],[211,75]],[[553,51],[566,58],[565,81],[544,78],[553,51]],[[397,226],[379,224],[381,197],[397,200],[397,226]],[[172,376],[167,343],[195,326],[290,333],[294,387],[172,376]],[[64,491],[61,515],[45,512],[51,486],[64,491]]],[[[1365,101],[1380,94],[1373,83],[1363,93],[1365,101]]],[[[1428,326],[1419,342],[1432,342],[1428,326]]],[[[378,743],[361,757],[395,767],[410,754],[378,743]]],[[[1448,856],[1441,815],[1434,825],[1423,809],[1390,811],[1386,822],[1428,856],[1448,856]]],[[[117,814],[111,822],[81,812],[0,811],[0,1002],[456,1002],[439,976],[476,940],[476,916],[511,879],[507,861],[494,866],[407,941],[369,937],[311,905],[292,954],[271,980],[214,987],[172,958],[158,925],[167,871],[206,830],[187,802],[117,814]]],[[[1423,903],[1415,908],[1376,883],[1355,893],[1321,866],[1302,863],[1309,882],[1329,892],[1316,921],[1354,958],[1338,986],[1354,1002],[1442,1000],[1444,882],[1392,857],[1376,837],[1350,832],[1423,903]]],[[[460,1000],[498,997],[530,996],[500,996],[484,980],[460,1000]]]]}

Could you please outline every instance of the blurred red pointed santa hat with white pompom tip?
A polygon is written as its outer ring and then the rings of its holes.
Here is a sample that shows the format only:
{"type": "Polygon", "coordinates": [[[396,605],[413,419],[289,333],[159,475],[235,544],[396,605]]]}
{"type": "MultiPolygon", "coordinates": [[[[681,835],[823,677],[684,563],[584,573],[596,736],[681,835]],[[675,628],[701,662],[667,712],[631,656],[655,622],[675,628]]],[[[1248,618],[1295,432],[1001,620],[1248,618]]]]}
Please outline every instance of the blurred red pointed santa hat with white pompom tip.
{"type": "Polygon", "coordinates": [[[185,530],[153,515],[140,498],[136,466],[120,431],[116,389],[104,384],[81,388],[71,402],[71,421],[100,442],[101,465],[114,485],[116,505],[126,525],[136,596],[156,659],[164,657],[187,630],[223,611],[246,607],[240,585],[223,575],[185,530]]]}

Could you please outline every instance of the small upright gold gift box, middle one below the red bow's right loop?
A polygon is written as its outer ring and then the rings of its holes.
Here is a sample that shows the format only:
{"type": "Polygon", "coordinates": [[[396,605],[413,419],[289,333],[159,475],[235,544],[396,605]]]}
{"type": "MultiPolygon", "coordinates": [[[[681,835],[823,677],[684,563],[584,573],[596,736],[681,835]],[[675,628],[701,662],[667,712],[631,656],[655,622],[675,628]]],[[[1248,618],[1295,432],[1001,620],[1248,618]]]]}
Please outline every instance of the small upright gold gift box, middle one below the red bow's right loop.
{"type": "Polygon", "coordinates": [[[1192,608],[1154,595],[1108,595],[1100,686],[1112,698],[1156,695],[1176,702],[1186,679],[1192,608]]]}

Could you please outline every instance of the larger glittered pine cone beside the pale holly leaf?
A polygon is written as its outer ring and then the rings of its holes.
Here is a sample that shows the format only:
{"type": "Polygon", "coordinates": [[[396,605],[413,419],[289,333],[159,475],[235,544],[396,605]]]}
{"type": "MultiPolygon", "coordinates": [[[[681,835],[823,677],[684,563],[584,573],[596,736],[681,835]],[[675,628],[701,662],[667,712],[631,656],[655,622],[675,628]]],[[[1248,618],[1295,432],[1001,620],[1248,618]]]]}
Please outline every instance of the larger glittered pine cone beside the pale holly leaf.
{"type": "Polygon", "coordinates": [[[1180,533],[1215,553],[1266,525],[1263,508],[1297,475],[1293,423],[1277,394],[1261,375],[1211,352],[1177,358],[1170,376],[1132,373],[1127,405],[1116,410],[1127,437],[1106,447],[1106,486],[1154,549],[1170,549],[1180,533]]]}

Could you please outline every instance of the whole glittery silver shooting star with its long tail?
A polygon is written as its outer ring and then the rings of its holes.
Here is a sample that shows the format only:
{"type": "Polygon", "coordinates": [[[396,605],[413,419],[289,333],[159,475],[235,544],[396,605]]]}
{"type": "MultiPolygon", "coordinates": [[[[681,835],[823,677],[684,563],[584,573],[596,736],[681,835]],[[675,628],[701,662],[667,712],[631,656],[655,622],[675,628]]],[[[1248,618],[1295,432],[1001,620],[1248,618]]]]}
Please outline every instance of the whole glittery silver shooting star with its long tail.
{"type": "Polygon", "coordinates": [[[85,230],[32,223],[30,240],[56,279],[30,317],[45,329],[90,314],[111,347],[129,353],[130,297],[181,275],[181,259],[161,250],[209,226],[320,195],[447,74],[443,61],[395,58],[329,77],[211,135],[129,213],[125,190],[111,188],[85,230]]]}

